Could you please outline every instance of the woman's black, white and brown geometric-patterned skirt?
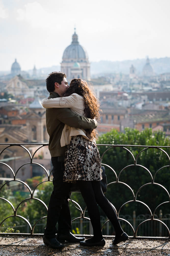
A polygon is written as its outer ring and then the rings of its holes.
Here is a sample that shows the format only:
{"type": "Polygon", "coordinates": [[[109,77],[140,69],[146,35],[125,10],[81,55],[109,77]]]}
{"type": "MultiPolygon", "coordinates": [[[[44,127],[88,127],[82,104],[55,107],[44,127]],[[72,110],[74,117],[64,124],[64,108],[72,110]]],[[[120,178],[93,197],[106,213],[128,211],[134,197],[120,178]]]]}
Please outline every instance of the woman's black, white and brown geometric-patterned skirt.
{"type": "Polygon", "coordinates": [[[96,144],[81,135],[72,136],[66,147],[63,181],[101,179],[101,162],[96,144]]]}

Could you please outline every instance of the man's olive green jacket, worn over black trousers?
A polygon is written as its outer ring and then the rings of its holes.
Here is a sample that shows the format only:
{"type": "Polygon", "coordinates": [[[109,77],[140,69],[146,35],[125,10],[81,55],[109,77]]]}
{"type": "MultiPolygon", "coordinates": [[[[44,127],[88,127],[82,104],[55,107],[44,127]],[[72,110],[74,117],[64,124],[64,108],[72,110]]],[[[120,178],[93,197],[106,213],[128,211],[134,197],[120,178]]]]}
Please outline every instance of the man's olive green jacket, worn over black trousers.
{"type": "MultiPolygon", "coordinates": [[[[50,92],[49,98],[60,97],[56,92],[50,92]]],[[[81,129],[95,129],[97,121],[79,116],[68,108],[50,108],[46,109],[46,126],[49,134],[48,148],[51,157],[64,156],[66,147],[61,147],[60,139],[64,124],[70,127],[81,129]]]]}

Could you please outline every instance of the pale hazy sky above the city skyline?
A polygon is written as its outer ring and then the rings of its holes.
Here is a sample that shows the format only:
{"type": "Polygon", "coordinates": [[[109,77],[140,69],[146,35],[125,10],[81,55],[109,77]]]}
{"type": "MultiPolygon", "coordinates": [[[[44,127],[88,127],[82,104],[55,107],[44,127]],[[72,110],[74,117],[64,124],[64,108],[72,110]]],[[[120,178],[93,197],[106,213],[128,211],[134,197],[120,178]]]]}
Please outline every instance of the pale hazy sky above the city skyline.
{"type": "Polygon", "coordinates": [[[59,65],[74,26],[90,61],[170,57],[170,0],[0,0],[0,70],[59,65]]]}

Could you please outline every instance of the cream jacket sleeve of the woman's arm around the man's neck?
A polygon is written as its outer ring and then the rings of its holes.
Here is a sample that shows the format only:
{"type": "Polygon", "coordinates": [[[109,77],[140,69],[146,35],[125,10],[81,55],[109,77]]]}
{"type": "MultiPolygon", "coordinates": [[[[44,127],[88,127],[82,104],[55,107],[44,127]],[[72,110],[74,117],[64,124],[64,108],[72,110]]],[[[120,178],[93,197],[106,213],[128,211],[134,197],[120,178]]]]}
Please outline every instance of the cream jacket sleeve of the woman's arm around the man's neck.
{"type": "Polygon", "coordinates": [[[44,108],[71,108],[77,102],[77,94],[71,94],[68,97],[59,97],[43,99],[41,104],[44,108]]]}

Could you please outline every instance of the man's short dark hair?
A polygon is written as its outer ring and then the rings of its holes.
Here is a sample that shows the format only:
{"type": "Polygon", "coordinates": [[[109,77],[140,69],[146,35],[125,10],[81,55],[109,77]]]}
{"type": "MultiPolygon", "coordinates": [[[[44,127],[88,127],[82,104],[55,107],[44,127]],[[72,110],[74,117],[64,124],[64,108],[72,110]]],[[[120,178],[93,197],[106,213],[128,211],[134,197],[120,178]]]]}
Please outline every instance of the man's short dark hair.
{"type": "Polygon", "coordinates": [[[66,74],[63,72],[51,72],[49,73],[48,77],[46,78],[46,85],[48,92],[54,92],[55,90],[55,82],[61,84],[61,81],[66,78],[66,74]]]}

